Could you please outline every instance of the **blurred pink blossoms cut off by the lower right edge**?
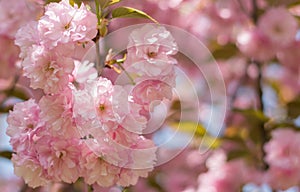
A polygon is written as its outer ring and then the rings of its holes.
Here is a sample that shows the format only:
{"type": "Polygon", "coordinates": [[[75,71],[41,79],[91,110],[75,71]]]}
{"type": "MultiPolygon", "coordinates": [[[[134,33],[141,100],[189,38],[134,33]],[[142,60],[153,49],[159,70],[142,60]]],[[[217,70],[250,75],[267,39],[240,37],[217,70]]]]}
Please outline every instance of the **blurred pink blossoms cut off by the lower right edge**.
{"type": "Polygon", "coordinates": [[[267,182],[275,189],[285,190],[300,180],[300,133],[291,129],[277,129],[264,146],[265,160],[270,166],[267,182]]]}

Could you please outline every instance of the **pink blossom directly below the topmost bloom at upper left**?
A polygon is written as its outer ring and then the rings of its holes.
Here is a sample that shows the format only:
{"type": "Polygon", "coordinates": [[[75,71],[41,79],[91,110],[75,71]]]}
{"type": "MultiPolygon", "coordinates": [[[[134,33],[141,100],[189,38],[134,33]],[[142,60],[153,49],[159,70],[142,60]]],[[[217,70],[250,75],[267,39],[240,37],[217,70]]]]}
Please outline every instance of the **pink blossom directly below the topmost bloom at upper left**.
{"type": "Polygon", "coordinates": [[[41,88],[45,93],[58,93],[68,85],[74,62],[43,46],[33,46],[22,66],[32,88],[41,88]]]}

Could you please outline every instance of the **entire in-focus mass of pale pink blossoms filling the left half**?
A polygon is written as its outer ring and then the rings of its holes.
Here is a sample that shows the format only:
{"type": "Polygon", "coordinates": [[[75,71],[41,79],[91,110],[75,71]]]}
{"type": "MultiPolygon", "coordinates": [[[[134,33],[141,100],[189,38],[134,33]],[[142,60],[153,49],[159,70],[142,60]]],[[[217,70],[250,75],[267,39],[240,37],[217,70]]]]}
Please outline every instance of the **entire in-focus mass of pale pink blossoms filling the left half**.
{"type": "Polygon", "coordinates": [[[45,93],[17,103],[7,119],[15,174],[31,187],[78,178],[128,186],[155,165],[156,147],[141,134],[157,103],[172,99],[177,45],[164,27],[133,31],[124,63],[133,84],[117,85],[78,61],[96,27],[84,4],[63,0],[17,33],[24,75],[45,93]]]}

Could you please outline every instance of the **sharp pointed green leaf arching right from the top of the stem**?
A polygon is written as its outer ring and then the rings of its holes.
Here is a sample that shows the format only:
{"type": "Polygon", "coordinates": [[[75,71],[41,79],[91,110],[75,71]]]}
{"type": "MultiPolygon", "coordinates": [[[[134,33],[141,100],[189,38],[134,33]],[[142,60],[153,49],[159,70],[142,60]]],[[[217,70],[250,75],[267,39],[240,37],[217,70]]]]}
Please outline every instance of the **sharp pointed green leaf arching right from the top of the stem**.
{"type": "Polygon", "coordinates": [[[151,21],[158,23],[147,13],[132,7],[118,7],[112,10],[112,17],[113,18],[144,18],[144,19],[150,19],[151,21]]]}

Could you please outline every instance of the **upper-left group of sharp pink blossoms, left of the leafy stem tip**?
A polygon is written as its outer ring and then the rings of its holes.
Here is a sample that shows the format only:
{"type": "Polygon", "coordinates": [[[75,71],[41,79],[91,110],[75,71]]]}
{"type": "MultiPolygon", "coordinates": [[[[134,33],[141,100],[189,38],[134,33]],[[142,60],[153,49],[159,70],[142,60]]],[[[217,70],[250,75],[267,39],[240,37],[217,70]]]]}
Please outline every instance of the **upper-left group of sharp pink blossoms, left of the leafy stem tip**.
{"type": "Polygon", "coordinates": [[[38,21],[32,21],[16,34],[24,76],[30,86],[57,94],[68,85],[75,64],[81,60],[97,34],[97,17],[82,4],[69,1],[50,3],[38,21]]]}

